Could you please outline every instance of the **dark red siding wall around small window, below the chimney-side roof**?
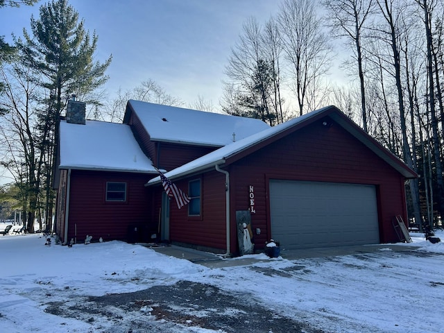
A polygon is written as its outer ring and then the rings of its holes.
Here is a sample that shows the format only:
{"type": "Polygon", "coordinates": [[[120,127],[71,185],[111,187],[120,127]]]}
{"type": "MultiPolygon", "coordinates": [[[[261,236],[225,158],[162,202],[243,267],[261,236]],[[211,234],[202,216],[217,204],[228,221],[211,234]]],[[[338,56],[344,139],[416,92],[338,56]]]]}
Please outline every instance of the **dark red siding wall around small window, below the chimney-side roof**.
{"type": "MultiPolygon", "coordinates": [[[[128,227],[137,226],[135,241],[144,241],[157,230],[151,221],[151,196],[144,184],[150,175],[103,171],[71,171],[68,239],[83,242],[86,235],[94,240],[128,239],[128,227]],[[105,200],[106,182],[126,182],[126,202],[105,200]],[[76,234],[77,232],[77,234],[76,234]]],[[[135,234],[130,234],[135,237],[135,234]]]]}

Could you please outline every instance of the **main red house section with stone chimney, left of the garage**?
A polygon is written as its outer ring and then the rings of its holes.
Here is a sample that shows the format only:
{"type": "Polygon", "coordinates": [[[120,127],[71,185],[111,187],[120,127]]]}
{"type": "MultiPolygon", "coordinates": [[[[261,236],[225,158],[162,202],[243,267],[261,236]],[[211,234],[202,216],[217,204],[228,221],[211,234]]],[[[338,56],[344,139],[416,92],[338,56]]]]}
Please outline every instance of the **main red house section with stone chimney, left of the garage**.
{"type": "Polygon", "coordinates": [[[85,103],[69,101],[60,121],[56,232],[62,242],[146,241],[158,233],[153,194],[158,175],[269,126],[166,105],[128,101],[123,123],[85,119],[85,103]],[[150,158],[151,157],[151,158],[150,158]]]}

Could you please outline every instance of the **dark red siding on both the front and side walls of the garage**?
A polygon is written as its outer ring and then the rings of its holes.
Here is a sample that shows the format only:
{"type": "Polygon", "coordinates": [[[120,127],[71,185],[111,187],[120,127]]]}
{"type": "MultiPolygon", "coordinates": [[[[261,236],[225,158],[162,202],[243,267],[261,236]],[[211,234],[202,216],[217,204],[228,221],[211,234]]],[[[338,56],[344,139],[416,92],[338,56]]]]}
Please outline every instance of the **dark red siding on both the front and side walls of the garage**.
{"type": "MultiPolygon", "coordinates": [[[[311,180],[375,185],[380,241],[398,241],[392,219],[406,219],[404,178],[346,130],[334,124],[312,123],[295,133],[245,155],[224,167],[230,172],[230,252],[238,253],[236,211],[250,207],[253,186],[255,214],[251,214],[255,248],[270,238],[268,184],[271,179],[311,180]],[[261,233],[256,234],[256,228],[261,233]]],[[[187,189],[188,181],[177,185],[187,189]]],[[[202,176],[203,210],[200,218],[187,216],[171,203],[171,241],[225,250],[225,176],[211,171],[202,176]]]]}

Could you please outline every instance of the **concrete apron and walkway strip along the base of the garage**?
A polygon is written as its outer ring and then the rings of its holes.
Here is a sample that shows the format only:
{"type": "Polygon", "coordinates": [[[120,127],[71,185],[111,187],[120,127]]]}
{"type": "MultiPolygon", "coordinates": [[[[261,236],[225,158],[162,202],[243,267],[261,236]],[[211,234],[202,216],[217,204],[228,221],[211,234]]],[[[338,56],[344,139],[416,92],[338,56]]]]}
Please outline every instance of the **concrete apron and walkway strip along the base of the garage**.
{"type": "MultiPolygon", "coordinates": [[[[361,255],[363,253],[376,253],[384,249],[390,249],[394,252],[410,252],[412,250],[416,250],[416,246],[399,246],[395,244],[336,246],[330,248],[304,248],[296,250],[281,248],[279,258],[259,259],[257,256],[253,255],[246,255],[244,257],[236,258],[223,258],[221,255],[215,255],[214,253],[203,252],[193,248],[184,248],[175,245],[150,248],[155,250],[157,253],[162,253],[163,255],[169,255],[179,259],[187,259],[194,264],[200,264],[209,268],[248,266],[257,262],[276,260],[280,258],[295,260],[316,257],[337,257],[342,255],[361,255]]],[[[263,257],[261,256],[261,258],[263,257]]]]}

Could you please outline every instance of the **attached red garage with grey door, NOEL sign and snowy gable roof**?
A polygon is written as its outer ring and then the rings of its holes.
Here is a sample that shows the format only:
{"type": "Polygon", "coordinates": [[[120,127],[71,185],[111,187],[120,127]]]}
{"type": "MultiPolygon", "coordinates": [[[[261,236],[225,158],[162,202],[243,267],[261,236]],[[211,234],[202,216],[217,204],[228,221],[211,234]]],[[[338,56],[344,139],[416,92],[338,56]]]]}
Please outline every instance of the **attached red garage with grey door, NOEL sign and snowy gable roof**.
{"type": "MultiPolygon", "coordinates": [[[[185,188],[201,180],[201,216],[172,207],[170,240],[227,254],[240,253],[244,230],[237,212],[246,210],[257,252],[270,239],[282,250],[398,242],[393,219],[407,221],[405,181],[417,177],[333,106],[232,142],[165,176],[185,188]]],[[[148,182],[159,185],[160,178],[148,182]]]]}

